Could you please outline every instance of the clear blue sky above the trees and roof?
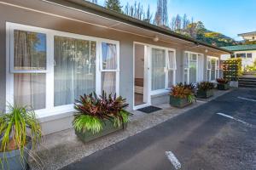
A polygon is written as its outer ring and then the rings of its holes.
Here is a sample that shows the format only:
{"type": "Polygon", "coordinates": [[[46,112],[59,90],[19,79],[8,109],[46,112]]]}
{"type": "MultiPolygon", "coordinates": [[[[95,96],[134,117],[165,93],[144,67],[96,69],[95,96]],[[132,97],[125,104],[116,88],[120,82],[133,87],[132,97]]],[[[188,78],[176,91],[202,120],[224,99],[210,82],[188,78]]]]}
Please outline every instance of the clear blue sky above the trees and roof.
{"type": "MultiPolygon", "coordinates": [[[[120,0],[125,6],[135,0],[120,0]]],[[[104,0],[98,0],[103,5],[104,0]]],[[[157,0],[137,0],[154,12],[157,0]]],[[[177,14],[188,14],[201,20],[207,29],[240,40],[237,34],[256,31],[256,0],[168,0],[169,20],[177,14]]]]}

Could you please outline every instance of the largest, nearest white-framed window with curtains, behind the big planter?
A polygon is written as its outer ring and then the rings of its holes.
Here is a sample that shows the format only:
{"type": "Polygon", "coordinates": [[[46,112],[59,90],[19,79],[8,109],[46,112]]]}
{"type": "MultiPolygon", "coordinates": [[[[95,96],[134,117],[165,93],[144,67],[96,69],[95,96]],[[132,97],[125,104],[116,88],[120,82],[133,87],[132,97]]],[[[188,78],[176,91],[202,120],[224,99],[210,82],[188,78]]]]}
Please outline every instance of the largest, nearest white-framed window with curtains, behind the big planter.
{"type": "Polygon", "coordinates": [[[73,111],[75,99],[119,94],[119,42],[7,23],[6,100],[38,115],[73,111]]]}

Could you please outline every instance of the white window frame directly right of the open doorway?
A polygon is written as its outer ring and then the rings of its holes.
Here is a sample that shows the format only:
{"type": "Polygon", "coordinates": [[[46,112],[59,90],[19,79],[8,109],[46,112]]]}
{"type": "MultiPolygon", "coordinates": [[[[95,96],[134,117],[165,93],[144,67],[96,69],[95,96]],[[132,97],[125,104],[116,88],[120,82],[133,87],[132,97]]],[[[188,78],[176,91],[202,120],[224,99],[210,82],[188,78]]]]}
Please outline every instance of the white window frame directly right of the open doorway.
{"type": "Polygon", "coordinates": [[[177,70],[177,59],[176,59],[176,49],[174,48],[164,48],[164,47],[160,47],[160,46],[155,46],[155,45],[149,45],[149,50],[150,50],[150,65],[149,65],[149,91],[150,91],[150,95],[156,95],[156,94],[165,94],[168,93],[170,91],[170,87],[168,87],[168,82],[169,82],[169,78],[168,78],[168,72],[170,70],[173,71],[173,84],[176,84],[176,70],[177,70]],[[152,48],[157,48],[157,49],[162,49],[165,50],[165,55],[166,55],[166,66],[165,66],[165,74],[166,74],[166,79],[165,79],[165,88],[163,89],[157,89],[157,90],[152,90],[151,84],[152,84],[152,48]],[[175,62],[175,66],[173,69],[169,68],[169,56],[168,56],[168,51],[172,51],[174,53],[174,62],[175,62]]]}

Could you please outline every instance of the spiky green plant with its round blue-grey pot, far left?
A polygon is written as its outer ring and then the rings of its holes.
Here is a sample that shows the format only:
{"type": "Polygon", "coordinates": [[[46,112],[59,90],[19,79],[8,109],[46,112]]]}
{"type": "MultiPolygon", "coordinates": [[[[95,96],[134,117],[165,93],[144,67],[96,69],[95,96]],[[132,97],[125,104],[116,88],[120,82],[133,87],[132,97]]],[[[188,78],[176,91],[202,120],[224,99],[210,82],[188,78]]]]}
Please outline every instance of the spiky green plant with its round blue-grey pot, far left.
{"type": "Polygon", "coordinates": [[[9,105],[9,112],[0,113],[0,134],[0,169],[27,169],[29,150],[42,135],[32,108],[9,105]]]}

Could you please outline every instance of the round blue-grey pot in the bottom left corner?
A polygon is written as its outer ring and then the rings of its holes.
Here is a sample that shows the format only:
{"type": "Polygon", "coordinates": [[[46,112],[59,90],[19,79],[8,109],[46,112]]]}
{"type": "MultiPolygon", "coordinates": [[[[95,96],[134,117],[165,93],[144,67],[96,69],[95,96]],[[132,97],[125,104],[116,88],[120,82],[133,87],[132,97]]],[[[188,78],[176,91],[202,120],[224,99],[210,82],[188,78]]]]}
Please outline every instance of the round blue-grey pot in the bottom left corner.
{"type": "Polygon", "coordinates": [[[6,170],[23,170],[29,169],[28,161],[28,151],[32,149],[31,138],[27,137],[29,142],[26,144],[26,149],[24,149],[23,158],[20,159],[20,150],[10,150],[7,152],[0,152],[0,169],[6,170]]]}

